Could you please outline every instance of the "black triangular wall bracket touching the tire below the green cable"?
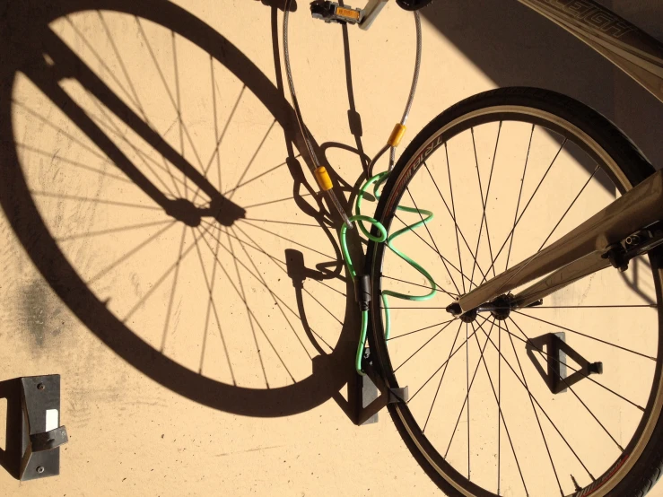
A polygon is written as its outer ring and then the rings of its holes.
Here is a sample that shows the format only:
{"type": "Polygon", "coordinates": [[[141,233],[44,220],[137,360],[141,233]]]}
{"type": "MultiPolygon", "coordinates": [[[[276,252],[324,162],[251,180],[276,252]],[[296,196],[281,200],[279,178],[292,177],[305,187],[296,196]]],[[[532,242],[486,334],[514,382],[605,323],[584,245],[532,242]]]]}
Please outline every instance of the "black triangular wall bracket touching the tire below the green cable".
{"type": "Polygon", "coordinates": [[[358,397],[359,407],[356,423],[360,426],[364,424],[378,423],[378,413],[388,404],[398,402],[407,402],[408,391],[405,388],[388,388],[384,380],[376,371],[376,367],[371,358],[371,350],[364,349],[362,369],[366,376],[359,380],[358,397]]]}

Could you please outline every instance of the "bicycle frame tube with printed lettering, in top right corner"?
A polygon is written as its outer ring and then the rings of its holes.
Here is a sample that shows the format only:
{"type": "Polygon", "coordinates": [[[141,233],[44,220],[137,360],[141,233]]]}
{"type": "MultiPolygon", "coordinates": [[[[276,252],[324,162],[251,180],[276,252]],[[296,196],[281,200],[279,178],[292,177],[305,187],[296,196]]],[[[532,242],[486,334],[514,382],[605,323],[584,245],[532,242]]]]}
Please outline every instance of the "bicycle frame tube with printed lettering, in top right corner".
{"type": "Polygon", "coordinates": [[[663,102],[663,43],[593,0],[518,0],[594,48],[663,102]]]}

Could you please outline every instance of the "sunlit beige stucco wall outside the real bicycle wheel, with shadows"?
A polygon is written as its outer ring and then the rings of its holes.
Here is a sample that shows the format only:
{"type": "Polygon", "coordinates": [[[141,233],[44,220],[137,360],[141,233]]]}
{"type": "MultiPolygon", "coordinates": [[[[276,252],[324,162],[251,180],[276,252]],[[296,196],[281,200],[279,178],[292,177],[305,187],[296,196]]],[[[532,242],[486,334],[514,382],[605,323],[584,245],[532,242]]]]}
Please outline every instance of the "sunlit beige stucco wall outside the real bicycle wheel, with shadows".
{"type": "MultiPolygon", "coordinates": [[[[224,231],[207,225],[205,244],[194,243],[202,231],[170,224],[160,209],[151,208],[149,198],[118,177],[89,136],[27,77],[17,76],[14,135],[2,140],[19,145],[39,212],[98,301],[92,305],[89,296],[70,295],[81,308],[69,310],[0,217],[0,380],[62,375],[62,423],[71,437],[62,451],[60,476],[19,484],[0,471],[0,494],[440,494],[387,414],[378,424],[358,428],[344,412],[356,334],[354,309],[345,309],[345,283],[309,278],[298,301],[283,264],[286,250],[301,251],[311,271],[325,263],[333,270],[336,257],[334,244],[306,214],[318,205],[304,187],[293,192],[285,164],[289,150],[276,100],[276,86],[284,81],[276,75],[273,46],[273,37],[280,39],[282,13],[268,3],[177,3],[221,33],[266,78],[249,72],[251,79],[244,82],[169,29],[125,13],[90,11],[51,24],[173,150],[208,169],[210,182],[222,192],[236,188],[232,199],[249,211],[250,220],[224,231]],[[267,109],[261,98],[275,108],[267,109]],[[292,200],[296,194],[303,195],[299,205],[292,200]],[[222,264],[215,263],[216,254],[222,264]],[[214,278],[225,283],[211,288],[214,278]],[[118,319],[112,326],[97,320],[103,312],[99,302],[118,319]],[[310,336],[298,318],[301,310],[310,336]],[[81,316],[96,323],[94,332],[81,316]],[[114,336],[120,327],[158,353],[144,353],[124,335],[114,336]],[[176,378],[179,368],[189,375],[176,378]]],[[[348,126],[343,33],[313,22],[308,5],[298,4],[290,43],[301,108],[315,140],[327,149],[327,161],[352,186],[361,162],[348,126]]],[[[641,9],[630,4],[624,13],[655,31],[660,23],[651,22],[652,12],[660,19],[660,11],[640,4],[641,9]]],[[[476,13],[475,18],[464,2],[453,2],[449,11],[446,6],[440,1],[423,16],[423,68],[406,142],[442,109],[469,95],[498,85],[534,84],[589,101],[624,126],[645,153],[663,157],[650,134],[654,125],[643,126],[645,119],[638,117],[642,112],[660,124],[663,111],[589,49],[515,3],[504,6],[502,21],[523,28],[504,33],[502,46],[486,31],[502,25],[492,13],[496,2],[487,5],[492,11],[485,17],[476,13]],[[550,58],[542,61],[542,54],[550,58]]],[[[196,31],[186,18],[169,22],[176,31],[196,31]]],[[[351,27],[347,33],[352,105],[362,118],[363,150],[372,154],[405,103],[414,22],[392,3],[371,31],[351,27]]],[[[205,42],[214,54],[234,57],[221,39],[205,42]]],[[[171,166],[161,155],[104,113],[75,77],[65,78],[62,86],[130,161],[150,171],[145,174],[153,175],[159,188],[191,187],[170,177],[171,166]]],[[[308,171],[304,177],[313,184],[308,171]]],[[[48,252],[37,257],[42,256],[48,252]]]]}

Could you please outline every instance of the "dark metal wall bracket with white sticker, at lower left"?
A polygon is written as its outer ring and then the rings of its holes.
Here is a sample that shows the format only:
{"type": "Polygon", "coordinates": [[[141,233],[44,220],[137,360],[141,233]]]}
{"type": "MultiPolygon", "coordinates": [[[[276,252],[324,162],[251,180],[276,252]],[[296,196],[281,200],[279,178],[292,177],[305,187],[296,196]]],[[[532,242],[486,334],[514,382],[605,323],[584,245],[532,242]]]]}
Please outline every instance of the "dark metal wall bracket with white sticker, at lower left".
{"type": "Polygon", "coordinates": [[[60,474],[60,446],[68,441],[60,426],[60,375],[19,379],[22,388],[21,481],[60,474]]]}

